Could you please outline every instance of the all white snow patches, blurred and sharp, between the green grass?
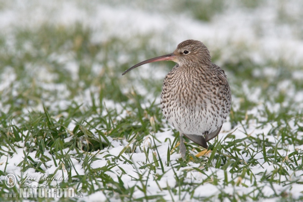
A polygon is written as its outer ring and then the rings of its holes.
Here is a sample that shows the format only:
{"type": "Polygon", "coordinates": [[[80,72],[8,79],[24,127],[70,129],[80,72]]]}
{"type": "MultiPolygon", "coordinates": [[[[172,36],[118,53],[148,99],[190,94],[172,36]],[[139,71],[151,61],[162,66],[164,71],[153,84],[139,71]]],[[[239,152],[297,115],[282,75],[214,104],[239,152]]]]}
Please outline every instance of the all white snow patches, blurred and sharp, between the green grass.
{"type": "MultiPolygon", "coordinates": [[[[222,57],[218,61],[218,64],[222,64],[225,61],[237,61],[238,54],[236,50],[239,46],[244,46],[247,50],[247,57],[257,64],[263,65],[266,64],[268,60],[279,61],[285,60],[290,61],[289,65],[297,65],[303,63],[303,42],[301,41],[300,34],[297,34],[293,31],[292,25],[279,24],[277,23],[278,10],[277,5],[273,1],[269,1],[263,7],[256,9],[254,11],[247,11],[245,9],[236,8],[234,11],[234,7],[227,9],[222,14],[218,14],[211,22],[200,22],[193,18],[186,16],[185,14],[170,14],[170,13],[151,13],[142,11],[139,9],[134,9],[131,7],[125,6],[110,6],[104,3],[99,3],[95,5],[94,3],[87,3],[83,5],[83,3],[79,3],[77,1],[32,1],[31,4],[26,3],[25,1],[17,1],[17,3],[6,3],[6,7],[0,12],[0,29],[5,30],[6,35],[13,34],[13,29],[15,27],[27,27],[31,29],[36,29],[37,27],[43,25],[44,23],[55,24],[57,26],[65,25],[73,25],[76,22],[83,23],[84,26],[87,26],[94,30],[92,39],[95,43],[98,42],[106,42],[111,37],[118,37],[123,40],[135,40],[133,38],[135,35],[144,35],[149,33],[156,33],[149,40],[148,46],[157,47],[159,50],[163,50],[164,52],[171,53],[176,45],[188,38],[194,38],[198,40],[205,41],[205,43],[212,50],[221,50],[222,57]],[[83,9],[86,8],[86,9],[83,9]],[[31,11],[31,12],[28,12],[31,11]],[[26,18],[24,16],[27,16],[26,18]],[[127,20],[125,20],[127,19],[127,20]],[[107,30],[107,31],[104,31],[107,30]],[[170,41],[164,42],[162,36],[166,36],[170,38],[170,41]],[[221,47],[228,47],[222,48],[221,47]]],[[[295,3],[285,3],[286,7],[290,7],[293,10],[293,13],[288,13],[290,16],[295,16],[295,13],[300,13],[301,10],[299,6],[295,6],[295,3]]],[[[285,11],[289,11],[289,9],[285,9],[285,11]]],[[[297,14],[299,15],[299,14],[297,14]]],[[[14,44],[14,38],[7,37],[7,43],[14,44]]],[[[133,45],[136,45],[136,41],[133,42],[133,45]]],[[[13,45],[12,45],[13,46],[13,45]]],[[[27,49],[32,49],[31,44],[26,44],[27,49]]],[[[15,50],[8,50],[15,51],[15,50]]],[[[159,53],[161,53],[159,51],[159,53]]],[[[140,57],[139,57],[140,58],[140,57]]],[[[71,78],[76,81],[79,77],[79,65],[71,60],[70,53],[65,53],[64,55],[51,55],[48,57],[48,60],[55,60],[60,63],[64,63],[64,68],[69,72],[71,78]]],[[[129,61],[127,55],[118,56],[118,61],[120,63],[125,63],[129,61]]],[[[110,67],[114,67],[116,63],[109,62],[110,67]]],[[[33,64],[25,64],[25,68],[28,70],[29,74],[35,74],[37,78],[37,83],[44,90],[56,90],[60,95],[58,100],[52,104],[53,108],[63,109],[70,104],[66,98],[70,95],[70,92],[67,90],[67,86],[64,84],[49,84],[57,77],[56,75],[49,74],[47,67],[35,66],[33,64]],[[37,69],[40,71],[36,71],[37,69]]],[[[94,64],[92,66],[93,72],[98,74],[102,71],[103,66],[94,64]]],[[[285,67],[287,68],[287,67],[285,67]]],[[[16,80],[16,74],[14,72],[13,67],[3,67],[4,71],[1,74],[1,83],[0,83],[0,91],[3,91],[3,99],[5,99],[5,95],[9,92],[6,91],[8,86],[13,85],[16,80]]],[[[166,74],[165,71],[159,71],[157,74],[150,74],[150,70],[152,69],[150,65],[146,65],[142,67],[142,71],[133,73],[135,75],[140,75],[141,77],[149,78],[153,77],[155,79],[159,79],[164,77],[166,74]],[[146,70],[146,71],[145,71],[146,70]]],[[[228,74],[228,72],[227,72],[228,74]]],[[[253,75],[255,77],[259,77],[264,75],[266,77],[270,77],[271,79],[275,79],[278,76],[279,72],[270,66],[267,66],[261,70],[257,69],[254,71],[253,75]]],[[[291,79],[300,81],[303,78],[303,72],[301,70],[296,70],[292,73],[292,78],[288,80],[284,80],[278,84],[278,91],[285,92],[288,97],[293,97],[294,101],[297,103],[301,103],[303,100],[303,92],[297,92],[295,90],[295,86],[291,79]]],[[[79,84],[81,86],[81,84],[79,84]]],[[[281,108],[279,104],[272,105],[271,103],[264,103],[262,99],[260,99],[261,88],[251,88],[248,87],[247,83],[243,83],[243,90],[245,91],[245,96],[247,99],[251,100],[251,102],[261,103],[257,107],[247,111],[247,115],[253,115],[256,119],[261,121],[264,117],[262,117],[259,112],[264,109],[265,106],[268,106],[268,109],[271,112],[278,112],[281,108]]],[[[146,89],[138,90],[142,94],[148,94],[149,92],[146,89]]],[[[77,100],[78,104],[84,103],[85,105],[91,105],[91,93],[93,96],[98,93],[97,87],[90,87],[88,89],[84,89],[83,93],[78,95],[75,100],[77,100]]],[[[14,96],[17,95],[16,91],[11,92],[14,96]]],[[[0,102],[1,111],[4,113],[8,112],[10,106],[3,106],[2,100],[0,102]]],[[[98,102],[98,100],[96,100],[98,102]]],[[[115,108],[120,113],[119,119],[123,119],[127,116],[127,111],[123,110],[123,107],[119,104],[115,104],[112,100],[104,100],[105,106],[107,108],[115,108]]],[[[157,103],[160,100],[157,99],[157,103]]],[[[233,105],[235,105],[234,109],[237,109],[237,105],[240,102],[239,99],[233,99],[233,105]]],[[[147,105],[147,104],[146,104],[147,105]]],[[[301,107],[302,104],[299,104],[301,107]]],[[[36,107],[31,109],[24,109],[28,111],[43,111],[43,107],[41,104],[38,104],[36,107]]],[[[105,112],[102,112],[105,113],[105,112]]],[[[17,123],[16,123],[17,124],[17,123]]],[[[293,123],[285,123],[289,124],[291,130],[294,131],[298,128],[297,125],[293,123]]],[[[284,124],[284,125],[285,125],[284,124]]],[[[256,120],[249,120],[246,125],[246,120],[243,120],[242,124],[235,126],[233,129],[231,128],[230,120],[223,125],[223,130],[219,134],[219,138],[224,138],[228,133],[232,132],[236,129],[232,134],[236,139],[244,139],[245,137],[252,136],[256,138],[262,138],[264,135],[265,139],[268,139],[269,142],[275,143],[279,142],[278,136],[272,136],[271,131],[274,127],[277,126],[276,122],[261,124],[256,123],[256,120]],[[247,126],[246,128],[243,128],[247,126]],[[231,131],[232,130],[232,131],[231,131]]],[[[68,128],[73,130],[75,127],[75,123],[71,122],[68,128]]],[[[281,126],[283,127],[283,126],[281,126]]],[[[302,126],[301,126],[302,127],[302,126]]],[[[28,131],[25,131],[26,134],[28,131]]],[[[135,150],[134,154],[122,154],[122,156],[130,159],[133,165],[124,164],[124,161],[118,160],[115,162],[120,166],[125,172],[126,175],[122,176],[122,181],[124,182],[125,187],[127,186],[141,186],[138,181],[133,180],[133,178],[138,178],[138,173],[142,174],[142,178],[147,180],[148,186],[148,194],[163,194],[167,200],[171,199],[170,193],[168,190],[163,190],[167,187],[174,187],[176,185],[176,176],[175,173],[171,170],[171,166],[164,166],[164,175],[161,180],[158,181],[158,184],[154,177],[157,177],[155,173],[151,173],[149,177],[147,177],[148,173],[146,173],[144,169],[139,169],[144,166],[148,162],[154,162],[153,154],[157,157],[157,159],[161,158],[161,161],[164,165],[167,163],[167,150],[170,148],[171,142],[173,142],[174,137],[172,136],[173,132],[169,128],[165,128],[165,132],[159,132],[156,134],[149,134],[145,137],[145,141],[139,148],[135,150]],[[157,149],[159,151],[160,157],[155,149],[151,149],[151,147],[155,146],[153,141],[153,135],[157,137],[160,141],[155,140],[157,149]],[[145,148],[149,149],[149,154],[146,155],[142,152],[145,148]],[[131,158],[130,158],[131,156],[131,158]],[[137,173],[138,172],[138,173],[137,173]]],[[[297,138],[303,138],[303,133],[298,132],[297,138]]],[[[65,139],[66,142],[70,141],[72,136],[65,139]]],[[[96,153],[95,158],[98,160],[94,161],[90,166],[91,168],[103,168],[109,165],[109,161],[111,161],[114,157],[119,157],[121,151],[128,145],[125,139],[122,140],[114,140],[110,139],[111,146],[108,148],[104,148],[104,150],[96,153]],[[105,158],[106,155],[111,155],[105,158]]],[[[229,141],[229,139],[226,139],[229,141]]],[[[245,140],[244,140],[245,141],[245,140]]],[[[279,143],[278,143],[279,144],[279,143]]],[[[16,153],[12,156],[2,156],[0,157],[0,170],[8,173],[14,173],[17,176],[21,176],[23,173],[21,172],[21,168],[17,165],[20,164],[24,160],[24,143],[18,142],[17,145],[21,148],[16,148],[16,153]],[[8,162],[8,164],[6,164],[8,162]]],[[[132,145],[130,145],[132,146],[132,145]]],[[[243,147],[244,148],[244,147],[243,147]]],[[[302,146],[296,146],[296,149],[303,149],[302,146]]],[[[289,150],[278,150],[278,153],[286,157],[287,154],[290,154],[294,151],[295,148],[289,146],[289,150]]],[[[7,151],[7,147],[2,147],[4,151],[7,151]]],[[[64,150],[67,152],[68,149],[64,150]]],[[[267,150],[268,151],[268,150],[267,150]]],[[[34,161],[39,162],[38,158],[35,158],[36,151],[26,151],[28,156],[30,156],[34,161]]],[[[193,154],[194,151],[191,151],[193,154]]],[[[70,151],[70,154],[75,154],[75,151],[70,151]]],[[[45,151],[45,156],[52,159],[51,155],[48,151],[45,151]]],[[[176,161],[180,158],[180,154],[174,152],[170,156],[171,164],[175,164],[176,161]]],[[[244,161],[248,161],[251,156],[243,157],[244,161]]],[[[274,193],[281,194],[285,189],[288,189],[290,194],[294,198],[298,198],[302,195],[302,184],[292,184],[292,187],[284,187],[278,184],[269,184],[266,182],[261,182],[261,176],[264,173],[271,173],[276,168],[273,165],[269,165],[264,162],[264,155],[262,153],[258,153],[254,158],[259,162],[259,164],[255,167],[251,167],[250,171],[256,176],[256,180],[258,184],[260,183],[260,187],[262,187],[262,192],[265,196],[271,196],[274,193]]],[[[298,163],[302,163],[301,160],[298,163]]],[[[56,163],[59,165],[60,161],[56,160],[56,163]]],[[[72,158],[72,163],[74,167],[72,168],[72,176],[85,175],[82,161],[78,161],[72,158]]],[[[53,160],[45,163],[45,166],[41,166],[43,171],[48,174],[54,174],[56,171],[56,167],[54,166],[53,160]]],[[[224,179],[224,171],[221,169],[212,168],[208,171],[204,171],[206,175],[201,174],[200,172],[193,170],[193,167],[197,167],[198,165],[189,163],[188,167],[184,167],[179,171],[175,171],[177,176],[183,174],[183,172],[187,172],[185,181],[191,182],[194,181],[198,183],[198,185],[194,191],[193,196],[199,197],[209,197],[215,194],[218,194],[220,190],[218,187],[208,181],[208,179],[217,175],[220,176],[221,179],[224,179]],[[207,191],[206,191],[207,190],[207,191]]],[[[201,169],[201,168],[199,168],[201,169]]],[[[64,169],[63,169],[64,171],[64,169]]],[[[29,169],[25,174],[34,174],[36,171],[34,169],[29,169]]],[[[111,172],[107,172],[115,181],[118,182],[118,176],[121,176],[123,171],[115,167],[111,172]]],[[[64,173],[64,172],[63,172],[64,173]]],[[[157,173],[163,174],[162,170],[157,170],[157,173]]],[[[289,171],[291,176],[290,180],[299,180],[302,182],[302,171],[289,171]]],[[[24,174],[23,174],[24,175],[24,174]]],[[[65,175],[67,175],[65,170],[65,175]]],[[[233,180],[237,182],[238,178],[234,179],[231,173],[227,172],[228,180],[233,180]]],[[[282,181],[286,181],[285,176],[275,176],[275,178],[281,178],[282,181]]],[[[218,182],[220,185],[223,182],[218,182]]],[[[238,187],[234,187],[232,185],[228,185],[224,188],[224,191],[229,194],[233,194],[234,192],[241,192],[248,194],[249,192],[254,190],[254,186],[250,183],[248,179],[242,179],[242,183],[245,183],[248,187],[244,187],[242,185],[238,187]]],[[[222,185],[223,186],[223,185],[222,185]]],[[[138,189],[134,192],[133,196],[135,198],[143,197],[143,193],[138,189]]],[[[173,196],[174,200],[178,200],[177,196],[173,196]]],[[[181,193],[181,198],[185,198],[186,200],[190,200],[190,194],[181,193]]],[[[97,191],[89,196],[84,197],[85,200],[90,201],[104,201],[107,200],[105,193],[102,191],[97,191]]],[[[270,201],[271,199],[267,199],[270,201]]],[[[273,199],[274,200],[274,199],[273,199]]]]}

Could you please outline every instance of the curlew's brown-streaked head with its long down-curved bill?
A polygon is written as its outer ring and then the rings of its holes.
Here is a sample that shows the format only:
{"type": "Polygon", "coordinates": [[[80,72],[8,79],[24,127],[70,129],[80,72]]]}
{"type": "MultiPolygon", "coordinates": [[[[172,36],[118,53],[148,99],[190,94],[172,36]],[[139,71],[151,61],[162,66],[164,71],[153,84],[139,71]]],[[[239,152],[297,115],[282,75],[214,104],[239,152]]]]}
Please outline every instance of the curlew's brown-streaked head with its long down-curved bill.
{"type": "Polygon", "coordinates": [[[123,72],[122,75],[141,65],[158,61],[174,61],[179,66],[189,64],[210,65],[211,55],[208,48],[201,41],[186,40],[179,43],[173,53],[140,62],[123,72]]]}

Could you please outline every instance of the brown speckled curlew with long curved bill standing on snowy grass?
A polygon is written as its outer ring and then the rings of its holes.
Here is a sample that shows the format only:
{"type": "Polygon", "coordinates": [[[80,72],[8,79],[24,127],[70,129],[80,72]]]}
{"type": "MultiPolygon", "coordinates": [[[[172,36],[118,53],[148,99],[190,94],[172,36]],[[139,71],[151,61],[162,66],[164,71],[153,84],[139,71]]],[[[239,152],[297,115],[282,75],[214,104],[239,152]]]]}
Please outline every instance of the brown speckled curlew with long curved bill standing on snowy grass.
{"type": "Polygon", "coordinates": [[[122,75],[158,61],[177,63],[163,81],[160,105],[165,119],[180,132],[185,160],[183,136],[204,148],[218,136],[231,108],[230,86],[224,70],[212,63],[206,45],[192,39],[179,43],[173,53],[140,62],[122,75]]]}

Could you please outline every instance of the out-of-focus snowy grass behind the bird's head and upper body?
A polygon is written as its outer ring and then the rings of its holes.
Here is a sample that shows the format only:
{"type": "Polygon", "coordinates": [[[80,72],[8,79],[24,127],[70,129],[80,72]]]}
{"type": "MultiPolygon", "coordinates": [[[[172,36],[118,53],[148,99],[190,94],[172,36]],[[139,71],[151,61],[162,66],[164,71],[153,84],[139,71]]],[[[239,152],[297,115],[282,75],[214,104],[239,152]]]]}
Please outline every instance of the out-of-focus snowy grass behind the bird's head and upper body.
{"type": "Polygon", "coordinates": [[[121,73],[186,39],[207,45],[234,95],[255,102],[243,87],[256,84],[270,98],[282,81],[279,89],[293,93],[303,79],[302,10],[283,0],[1,1],[0,107],[58,109],[100,92],[122,102],[130,89],[159,98],[173,62],[121,73]]]}

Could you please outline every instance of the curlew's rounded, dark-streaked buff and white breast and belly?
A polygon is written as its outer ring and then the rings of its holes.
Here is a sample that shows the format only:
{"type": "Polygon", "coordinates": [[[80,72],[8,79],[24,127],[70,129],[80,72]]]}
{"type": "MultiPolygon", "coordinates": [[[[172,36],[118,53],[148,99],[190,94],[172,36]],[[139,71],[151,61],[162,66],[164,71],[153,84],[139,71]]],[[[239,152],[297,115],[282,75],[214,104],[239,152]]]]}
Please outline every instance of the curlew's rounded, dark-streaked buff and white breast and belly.
{"type": "Polygon", "coordinates": [[[176,65],[164,79],[161,94],[164,117],[184,134],[205,135],[215,131],[230,111],[228,84],[217,82],[216,78],[210,81],[207,78],[210,75],[200,71],[178,68],[176,65]]]}

